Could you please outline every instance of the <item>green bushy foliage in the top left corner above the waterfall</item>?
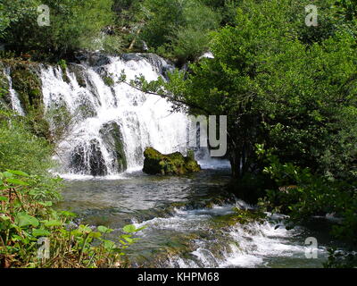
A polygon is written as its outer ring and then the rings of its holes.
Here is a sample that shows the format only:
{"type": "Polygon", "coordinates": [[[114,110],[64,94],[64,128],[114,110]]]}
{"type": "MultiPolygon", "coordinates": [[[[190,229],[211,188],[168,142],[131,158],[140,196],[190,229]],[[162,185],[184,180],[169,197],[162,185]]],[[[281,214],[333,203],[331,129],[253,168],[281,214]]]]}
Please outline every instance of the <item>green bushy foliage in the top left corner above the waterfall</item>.
{"type": "Polygon", "coordinates": [[[56,53],[61,58],[78,48],[93,46],[101,29],[113,21],[112,0],[36,1],[15,0],[4,4],[4,41],[17,51],[56,53]],[[37,6],[48,5],[50,25],[38,26],[37,6]]]}

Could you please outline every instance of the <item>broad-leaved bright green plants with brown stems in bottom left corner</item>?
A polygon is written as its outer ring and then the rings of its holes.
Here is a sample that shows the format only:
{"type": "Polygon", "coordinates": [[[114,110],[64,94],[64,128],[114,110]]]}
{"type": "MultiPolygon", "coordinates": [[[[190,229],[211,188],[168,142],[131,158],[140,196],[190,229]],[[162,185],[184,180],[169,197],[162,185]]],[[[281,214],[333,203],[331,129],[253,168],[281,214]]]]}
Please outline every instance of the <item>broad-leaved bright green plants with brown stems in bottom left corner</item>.
{"type": "MultiPolygon", "coordinates": [[[[126,225],[118,242],[107,240],[113,230],[71,222],[75,214],[51,208],[51,196],[38,198],[43,178],[25,172],[0,172],[0,263],[2,267],[120,267],[124,250],[137,241],[132,234],[145,227],[126,225]],[[50,200],[49,200],[50,199],[50,200]],[[49,241],[50,257],[37,256],[38,238],[49,241]]],[[[54,179],[58,186],[60,179],[54,179]]],[[[46,186],[52,188],[51,185],[46,186]]]]}

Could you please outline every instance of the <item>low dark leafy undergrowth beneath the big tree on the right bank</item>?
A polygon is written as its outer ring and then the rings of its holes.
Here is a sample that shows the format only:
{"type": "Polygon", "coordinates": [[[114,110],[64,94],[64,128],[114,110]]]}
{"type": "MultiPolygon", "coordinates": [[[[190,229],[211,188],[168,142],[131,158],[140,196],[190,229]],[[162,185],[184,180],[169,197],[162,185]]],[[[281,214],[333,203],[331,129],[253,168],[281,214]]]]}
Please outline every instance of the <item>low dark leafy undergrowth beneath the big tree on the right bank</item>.
{"type": "Polygon", "coordinates": [[[294,223],[312,215],[335,214],[342,218],[342,223],[334,225],[332,233],[339,239],[357,242],[356,181],[331,181],[314,175],[308,167],[281,164],[278,156],[263,146],[257,146],[257,153],[267,163],[263,172],[268,173],[277,186],[267,190],[261,205],[289,214],[294,223]]]}

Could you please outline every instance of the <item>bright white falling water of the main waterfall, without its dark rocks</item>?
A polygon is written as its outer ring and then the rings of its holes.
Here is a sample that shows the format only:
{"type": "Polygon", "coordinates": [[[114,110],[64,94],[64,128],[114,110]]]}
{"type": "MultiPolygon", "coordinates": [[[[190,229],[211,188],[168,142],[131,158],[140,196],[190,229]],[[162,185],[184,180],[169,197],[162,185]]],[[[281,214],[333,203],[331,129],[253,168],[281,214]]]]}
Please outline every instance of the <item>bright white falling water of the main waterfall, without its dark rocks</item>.
{"type": "MultiPolygon", "coordinates": [[[[112,167],[111,150],[105,147],[100,130],[105,123],[116,122],[120,126],[125,154],[129,170],[137,170],[144,161],[145,147],[154,147],[162,153],[175,151],[185,152],[187,146],[187,116],[186,114],[170,113],[171,105],[163,98],[146,95],[125,83],[116,83],[121,71],[127,75],[127,81],[143,74],[146,80],[157,80],[162,74],[158,66],[149,63],[145,58],[124,61],[119,57],[110,58],[111,63],[100,67],[84,67],[84,78],[87,87],[79,86],[74,73],[67,71],[70,82],[62,79],[62,70],[47,66],[42,69],[44,102],[47,110],[52,106],[68,106],[75,124],[71,133],[58,145],[58,153],[62,160],[62,172],[73,173],[71,156],[76,147],[84,147],[90,153],[90,143],[97,142],[108,174],[114,175],[118,170],[112,167]],[[114,85],[105,85],[99,72],[110,75],[114,85]],[[80,108],[86,106],[95,111],[95,116],[83,118],[79,115],[80,108]]],[[[163,66],[168,63],[161,59],[163,66]]],[[[78,172],[77,172],[78,173],[78,172]]],[[[86,171],[79,172],[87,174],[86,171]]]]}

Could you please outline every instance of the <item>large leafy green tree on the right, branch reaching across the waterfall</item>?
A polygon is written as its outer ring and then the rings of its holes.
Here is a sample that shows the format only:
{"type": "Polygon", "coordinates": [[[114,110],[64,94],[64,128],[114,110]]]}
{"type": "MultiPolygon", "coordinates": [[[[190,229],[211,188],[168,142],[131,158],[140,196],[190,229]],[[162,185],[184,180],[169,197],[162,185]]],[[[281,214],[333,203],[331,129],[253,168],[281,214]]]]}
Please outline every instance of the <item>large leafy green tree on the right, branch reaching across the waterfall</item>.
{"type": "Polygon", "coordinates": [[[257,143],[276,149],[281,162],[322,175],[346,178],[356,171],[355,38],[334,22],[334,33],[304,42],[298,27],[306,4],[244,1],[235,26],[215,33],[214,59],[163,83],[173,102],[194,106],[193,114],[228,115],[236,177],[262,171],[257,143]]]}

